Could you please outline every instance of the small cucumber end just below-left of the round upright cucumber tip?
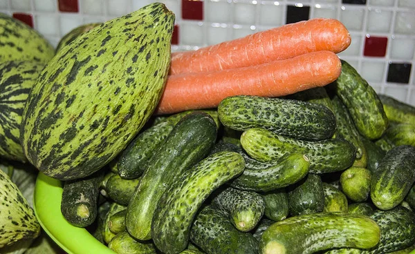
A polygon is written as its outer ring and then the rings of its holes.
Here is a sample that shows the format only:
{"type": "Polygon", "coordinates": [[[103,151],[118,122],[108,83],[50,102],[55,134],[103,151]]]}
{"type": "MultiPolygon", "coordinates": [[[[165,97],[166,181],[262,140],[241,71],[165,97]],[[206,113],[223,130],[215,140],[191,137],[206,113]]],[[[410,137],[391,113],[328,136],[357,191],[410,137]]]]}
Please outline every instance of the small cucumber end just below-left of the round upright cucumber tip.
{"type": "Polygon", "coordinates": [[[331,184],[323,182],[324,208],[323,212],[342,212],[347,213],[347,197],[342,190],[335,188],[331,184]]]}

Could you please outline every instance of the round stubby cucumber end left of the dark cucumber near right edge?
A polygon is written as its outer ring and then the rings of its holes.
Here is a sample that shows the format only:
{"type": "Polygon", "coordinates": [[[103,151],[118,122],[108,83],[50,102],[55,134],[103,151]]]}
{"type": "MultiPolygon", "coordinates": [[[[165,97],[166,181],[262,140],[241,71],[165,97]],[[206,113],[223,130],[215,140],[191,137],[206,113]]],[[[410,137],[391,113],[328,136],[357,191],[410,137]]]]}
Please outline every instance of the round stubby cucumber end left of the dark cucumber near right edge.
{"type": "Polygon", "coordinates": [[[365,202],[369,198],[371,171],[350,167],[340,175],[343,193],[353,202],[365,202]]]}

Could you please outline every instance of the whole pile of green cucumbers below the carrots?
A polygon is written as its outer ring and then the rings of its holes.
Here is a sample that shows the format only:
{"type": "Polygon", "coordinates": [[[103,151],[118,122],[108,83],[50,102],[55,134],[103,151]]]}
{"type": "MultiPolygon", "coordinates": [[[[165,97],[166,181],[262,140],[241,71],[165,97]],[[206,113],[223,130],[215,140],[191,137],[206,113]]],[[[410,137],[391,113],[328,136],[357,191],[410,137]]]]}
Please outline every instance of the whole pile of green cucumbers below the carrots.
{"type": "Polygon", "coordinates": [[[116,253],[409,253],[414,134],[342,61],[324,88],[151,117],[62,214],[116,253]]]}

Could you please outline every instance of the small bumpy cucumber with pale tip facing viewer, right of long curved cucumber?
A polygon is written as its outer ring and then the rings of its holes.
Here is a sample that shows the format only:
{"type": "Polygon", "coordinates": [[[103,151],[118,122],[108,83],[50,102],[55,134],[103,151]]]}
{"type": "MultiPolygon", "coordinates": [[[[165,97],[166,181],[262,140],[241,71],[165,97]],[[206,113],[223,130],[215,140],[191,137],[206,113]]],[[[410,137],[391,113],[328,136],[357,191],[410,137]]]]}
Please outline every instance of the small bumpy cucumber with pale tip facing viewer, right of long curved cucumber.
{"type": "Polygon", "coordinates": [[[225,187],[212,199],[212,205],[228,213],[239,231],[251,231],[264,215],[265,202],[259,193],[225,187]]]}

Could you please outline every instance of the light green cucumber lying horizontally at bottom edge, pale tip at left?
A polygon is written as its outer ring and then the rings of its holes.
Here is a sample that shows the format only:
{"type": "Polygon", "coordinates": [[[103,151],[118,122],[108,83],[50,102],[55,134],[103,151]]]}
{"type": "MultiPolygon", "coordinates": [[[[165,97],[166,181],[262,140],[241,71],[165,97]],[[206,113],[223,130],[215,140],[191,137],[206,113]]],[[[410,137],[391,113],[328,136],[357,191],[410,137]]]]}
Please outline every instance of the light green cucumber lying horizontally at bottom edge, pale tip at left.
{"type": "Polygon", "coordinates": [[[275,222],[262,235],[259,253],[273,253],[276,246],[292,254],[342,247],[371,248],[379,239],[379,226],[365,215],[315,213],[275,222]]]}

